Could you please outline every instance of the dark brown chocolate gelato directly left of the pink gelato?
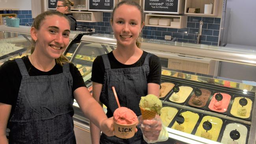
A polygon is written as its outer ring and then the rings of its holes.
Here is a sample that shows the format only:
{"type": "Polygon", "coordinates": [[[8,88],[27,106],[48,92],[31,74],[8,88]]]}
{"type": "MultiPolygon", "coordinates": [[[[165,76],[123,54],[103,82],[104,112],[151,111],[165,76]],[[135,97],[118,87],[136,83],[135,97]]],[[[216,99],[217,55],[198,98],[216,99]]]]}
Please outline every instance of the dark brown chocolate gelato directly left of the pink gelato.
{"type": "Polygon", "coordinates": [[[191,98],[189,99],[189,105],[194,107],[204,107],[211,96],[211,91],[207,89],[200,89],[202,91],[201,96],[196,96],[193,94],[191,98]]]}

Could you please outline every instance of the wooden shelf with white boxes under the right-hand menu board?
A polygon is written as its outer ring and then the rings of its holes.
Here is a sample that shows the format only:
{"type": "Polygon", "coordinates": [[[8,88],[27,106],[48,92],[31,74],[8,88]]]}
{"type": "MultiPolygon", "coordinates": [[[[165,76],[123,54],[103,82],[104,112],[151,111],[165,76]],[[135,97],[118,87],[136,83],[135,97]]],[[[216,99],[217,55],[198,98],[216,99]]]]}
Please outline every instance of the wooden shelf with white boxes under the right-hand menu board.
{"type": "Polygon", "coordinates": [[[152,14],[146,14],[145,18],[145,26],[154,26],[154,27],[162,27],[162,28],[186,28],[187,26],[187,16],[180,16],[180,15],[152,15],[152,14]],[[160,26],[160,25],[151,25],[149,24],[150,18],[178,18],[180,19],[179,26],[160,26]]]}

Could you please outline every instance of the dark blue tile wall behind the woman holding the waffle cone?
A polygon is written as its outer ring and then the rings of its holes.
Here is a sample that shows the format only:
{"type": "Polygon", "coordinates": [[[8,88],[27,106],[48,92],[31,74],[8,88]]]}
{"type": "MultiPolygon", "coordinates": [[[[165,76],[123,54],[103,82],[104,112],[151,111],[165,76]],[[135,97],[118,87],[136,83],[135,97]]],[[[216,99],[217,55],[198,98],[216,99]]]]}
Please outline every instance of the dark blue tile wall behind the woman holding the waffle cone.
{"type": "MultiPolygon", "coordinates": [[[[78,25],[94,28],[95,33],[113,34],[110,17],[111,13],[103,13],[103,22],[79,22],[78,25]]],[[[197,43],[200,20],[204,22],[201,43],[217,45],[221,18],[187,17],[187,27],[182,29],[145,26],[142,30],[142,37],[164,40],[165,35],[171,35],[172,39],[175,38],[174,41],[197,43]]]]}

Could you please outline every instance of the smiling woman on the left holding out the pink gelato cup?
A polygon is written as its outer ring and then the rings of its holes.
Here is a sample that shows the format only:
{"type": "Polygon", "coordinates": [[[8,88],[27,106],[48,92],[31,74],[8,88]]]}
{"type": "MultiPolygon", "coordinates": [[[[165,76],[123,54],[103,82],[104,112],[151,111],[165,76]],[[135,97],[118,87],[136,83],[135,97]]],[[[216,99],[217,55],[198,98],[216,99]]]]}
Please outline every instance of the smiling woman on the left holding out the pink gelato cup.
{"type": "Polygon", "coordinates": [[[69,44],[68,18],[58,11],[38,15],[30,30],[31,55],[0,67],[0,144],[75,144],[74,98],[103,133],[113,136],[113,118],[87,90],[63,55],[69,44]]]}

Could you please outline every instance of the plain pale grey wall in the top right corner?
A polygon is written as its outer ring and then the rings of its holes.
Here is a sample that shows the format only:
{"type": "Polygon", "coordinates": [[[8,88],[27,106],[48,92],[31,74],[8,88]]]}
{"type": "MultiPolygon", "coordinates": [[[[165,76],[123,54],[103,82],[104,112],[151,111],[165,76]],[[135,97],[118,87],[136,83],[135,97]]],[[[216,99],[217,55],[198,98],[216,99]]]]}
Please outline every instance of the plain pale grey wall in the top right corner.
{"type": "Polygon", "coordinates": [[[231,9],[228,43],[256,46],[256,0],[227,0],[231,9]]]}

